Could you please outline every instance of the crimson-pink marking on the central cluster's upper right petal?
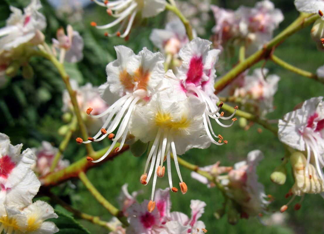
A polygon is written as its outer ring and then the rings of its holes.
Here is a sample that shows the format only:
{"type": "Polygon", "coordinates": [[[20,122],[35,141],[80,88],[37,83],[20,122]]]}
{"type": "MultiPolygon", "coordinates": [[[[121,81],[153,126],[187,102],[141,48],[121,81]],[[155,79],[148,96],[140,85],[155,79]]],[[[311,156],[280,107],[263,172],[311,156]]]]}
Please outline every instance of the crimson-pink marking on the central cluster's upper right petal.
{"type": "Polygon", "coordinates": [[[203,76],[203,57],[193,56],[190,60],[189,69],[187,72],[186,83],[192,83],[196,86],[201,84],[203,76]]]}

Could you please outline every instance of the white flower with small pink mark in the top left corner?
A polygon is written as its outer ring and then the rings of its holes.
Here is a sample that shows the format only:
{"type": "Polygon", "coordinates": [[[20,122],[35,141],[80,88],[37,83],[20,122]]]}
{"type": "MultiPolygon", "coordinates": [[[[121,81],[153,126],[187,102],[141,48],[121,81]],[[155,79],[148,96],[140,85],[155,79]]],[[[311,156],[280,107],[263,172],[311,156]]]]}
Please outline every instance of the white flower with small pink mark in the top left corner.
{"type": "MultiPolygon", "coordinates": [[[[40,31],[46,27],[46,18],[37,11],[40,8],[39,0],[32,0],[24,8],[24,14],[20,9],[10,6],[13,13],[6,20],[6,27],[0,29],[0,50],[11,50],[29,42],[35,36],[38,37],[40,31]]],[[[40,42],[37,40],[37,43],[40,42]]]]}

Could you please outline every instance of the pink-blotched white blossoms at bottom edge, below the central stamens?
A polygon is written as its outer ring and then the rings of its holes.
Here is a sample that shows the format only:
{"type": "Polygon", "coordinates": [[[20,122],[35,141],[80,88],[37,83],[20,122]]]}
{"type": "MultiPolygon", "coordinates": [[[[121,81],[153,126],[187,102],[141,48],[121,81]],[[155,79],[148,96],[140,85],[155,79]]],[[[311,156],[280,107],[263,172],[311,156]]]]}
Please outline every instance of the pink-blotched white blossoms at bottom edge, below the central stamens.
{"type": "Polygon", "coordinates": [[[157,209],[151,213],[146,209],[148,203],[149,201],[145,200],[128,208],[130,226],[126,229],[126,234],[204,234],[207,231],[204,223],[198,220],[206,206],[202,201],[191,200],[191,218],[177,211],[170,212],[172,204],[168,188],[156,191],[157,209]]]}

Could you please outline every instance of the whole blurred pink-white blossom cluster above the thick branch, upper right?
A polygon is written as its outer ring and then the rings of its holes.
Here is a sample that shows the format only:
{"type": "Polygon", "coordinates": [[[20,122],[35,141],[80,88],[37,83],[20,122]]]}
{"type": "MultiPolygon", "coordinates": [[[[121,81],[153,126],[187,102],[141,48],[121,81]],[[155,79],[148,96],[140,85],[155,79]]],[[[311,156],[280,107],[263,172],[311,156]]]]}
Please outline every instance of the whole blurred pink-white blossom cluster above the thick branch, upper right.
{"type": "Polygon", "coordinates": [[[269,0],[257,2],[255,7],[240,6],[237,11],[212,6],[216,25],[214,44],[222,49],[227,43],[243,42],[246,54],[259,50],[272,39],[273,30],[284,20],[280,9],[269,0]]]}

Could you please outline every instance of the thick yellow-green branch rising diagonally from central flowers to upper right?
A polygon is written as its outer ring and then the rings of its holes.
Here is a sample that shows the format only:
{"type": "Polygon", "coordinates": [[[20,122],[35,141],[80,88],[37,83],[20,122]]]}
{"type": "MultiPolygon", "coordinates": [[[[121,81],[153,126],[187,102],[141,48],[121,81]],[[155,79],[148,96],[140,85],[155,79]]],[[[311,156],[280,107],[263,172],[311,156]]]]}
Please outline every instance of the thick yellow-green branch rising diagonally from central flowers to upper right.
{"type": "Polygon", "coordinates": [[[268,43],[264,44],[261,50],[258,50],[257,52],[249,56],[246,60],[237,64],[231,71],[227,72],[222,78],[216,81],[214,86],[216,90],[215,94],[224,89],[226,85],[230,84],[239,74],[244,72],[246,69],[250,68],[260,60],[268,58],[271,52],[285,39],[287,39],[295,32],[299,31],[300,29],[314,23],[316,19],[318,19],[318,17],[318,14],[310,15],[301,13],[300,16],[291,25],[284,29],[284,31],[279,33],[268,43]]]}

